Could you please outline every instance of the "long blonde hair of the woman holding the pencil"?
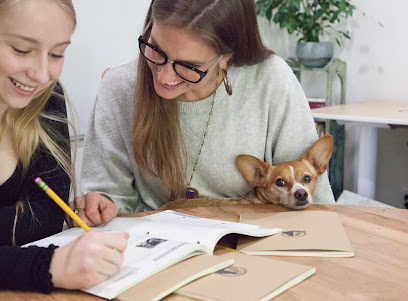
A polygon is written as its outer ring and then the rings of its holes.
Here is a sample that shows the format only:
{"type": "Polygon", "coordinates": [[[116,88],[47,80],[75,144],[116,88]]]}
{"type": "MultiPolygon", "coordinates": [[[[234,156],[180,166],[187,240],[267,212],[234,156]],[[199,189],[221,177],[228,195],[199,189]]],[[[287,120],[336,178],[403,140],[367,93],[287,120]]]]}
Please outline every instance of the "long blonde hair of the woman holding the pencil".
{"type": "MultiPolygon", "coordinates": [[[[24,0],[0,0],[0,13],[6,12],[10,7],[17,5],[24,0]]],[[[71,0],[54,0],[58,3],[71,17],[76,26],[76,14],[71,0]]],[[[1,58],[0,58],[1,59],[1,58]]],[[[61,84],[61,83],[60,83],[61,84]]],[[[71,193],[76,195],[76,180],[75,180],[75,157],[76,157],[76,132],[71,122],[65,116],[56,116],[46,114],[43,111],[48,99],[51,96],[63,97],[62,95],[53,92],[56,83],[53,83],[48,88],[38,92],[34,95],[30,103],[22,109],[7,109],[1,120],[0,127],[7,129],[12,137],[15,152],[19,162],[23,167],[23,175],[29,168],[31,159],[40,144],[44,145],[51,155],[56,159],[64,172],[71,180],[71,193]],[[74,135],[75,147],[73,156],[70,154],[70,141],[65,137],[61,137],[57,130],[47,125],[47,120],[61,122],[71,125],[71,130],[74,135]],[[56,141],[60,141],[58,144],[56,141]],[[62,146],[61,146],[62,145],[62,146]],[[67,153],[66,150],[69,150],[67,153]]],[[[70,103],[66,91],[61,84],[64,91],[64,98],[67,104],[68,111],[71,112],[72,120],[75,120],[75,110],[70,103]]],[[[61,100],[63,101],[63,99],[61,100]]],[[[13,244],[15,244],[15,229],[19,213],[22,213],[25,207],[30,208],[27,198],[23,198],[16,203],[16,216],[13,227],[13,244]]]]}

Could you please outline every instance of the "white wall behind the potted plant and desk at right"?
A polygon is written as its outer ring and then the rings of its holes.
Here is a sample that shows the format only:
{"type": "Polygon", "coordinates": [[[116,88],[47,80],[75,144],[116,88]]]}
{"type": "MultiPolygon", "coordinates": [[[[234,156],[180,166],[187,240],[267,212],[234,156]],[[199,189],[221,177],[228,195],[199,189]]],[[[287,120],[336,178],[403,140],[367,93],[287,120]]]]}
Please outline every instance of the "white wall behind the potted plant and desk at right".
{"type": "MultiPolygon", "coordinates": [[[[408,39],[403,34],[408,2],[355,0],[353,3],[359,10],[346,26],[352,40],[345,40],[343,48],[335,45],[335,57],[347,62],[346,102],[395,100],[408,103],[408,39]]],[[[267,46],[284,58],[294,57],[297,39],[265,19],[259,21],[267,46]]],[[[302,85],[308,96],[324,96],[325,84],[318,74],[302,78],[302,85]]],[[[403,191],[408,188],[408,128],[380,129],[378,133],[375,198],[401,207],[403,191]]],[[[346,126],[344,188],[353,192],[357,190],[354,183],[358,138],[357,129],[346,126]]]]}

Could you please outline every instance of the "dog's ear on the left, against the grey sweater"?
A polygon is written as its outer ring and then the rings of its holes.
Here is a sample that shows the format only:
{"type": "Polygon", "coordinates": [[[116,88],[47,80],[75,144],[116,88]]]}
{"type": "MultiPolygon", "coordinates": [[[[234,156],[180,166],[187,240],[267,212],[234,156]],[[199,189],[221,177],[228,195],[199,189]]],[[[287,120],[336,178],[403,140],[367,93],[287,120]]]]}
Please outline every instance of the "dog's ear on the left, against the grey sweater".
{"type": "Polygon", "coordinates": [[[250,155],[238,155],[235,158],[238,170],[252,187],[263,186],[270,165],[250,155]]]}

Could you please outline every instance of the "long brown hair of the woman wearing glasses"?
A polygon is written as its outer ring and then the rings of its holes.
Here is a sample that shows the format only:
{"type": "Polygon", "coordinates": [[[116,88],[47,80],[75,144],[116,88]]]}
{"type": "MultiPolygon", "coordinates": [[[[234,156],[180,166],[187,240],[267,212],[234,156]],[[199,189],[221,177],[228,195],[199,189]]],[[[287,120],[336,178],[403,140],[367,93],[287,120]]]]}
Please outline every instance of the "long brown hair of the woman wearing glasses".
{"type": "MultiPolygon", "coordinates": [[[[154,22],[185,29],[218,54],[232,54],[229,66],[254,65],[273,54],[262,43],[253,0],[153,0],[144,38],[148,39],[148,25],[154,22]]],[[[178,103],[156,94],[151,70],[141,55],[134,96],[133,148],[138,166],[164,183],[170,199],[179,196],[186,185],[186,147],[178,103]]]]}

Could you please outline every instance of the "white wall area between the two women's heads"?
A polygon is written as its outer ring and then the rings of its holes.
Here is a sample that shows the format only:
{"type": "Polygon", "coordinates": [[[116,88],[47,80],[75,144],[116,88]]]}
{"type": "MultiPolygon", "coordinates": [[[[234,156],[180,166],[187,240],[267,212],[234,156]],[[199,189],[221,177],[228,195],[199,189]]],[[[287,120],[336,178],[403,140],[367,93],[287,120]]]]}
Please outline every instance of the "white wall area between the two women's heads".
{"type": "Polygon", "coordinates": [[[77,28],[66,52],[61,80],[77,113],[76,128],[85,134],[89,112],[107,67],[131,60],[150,0],[73,0],[77,28]]]}

